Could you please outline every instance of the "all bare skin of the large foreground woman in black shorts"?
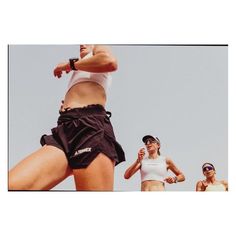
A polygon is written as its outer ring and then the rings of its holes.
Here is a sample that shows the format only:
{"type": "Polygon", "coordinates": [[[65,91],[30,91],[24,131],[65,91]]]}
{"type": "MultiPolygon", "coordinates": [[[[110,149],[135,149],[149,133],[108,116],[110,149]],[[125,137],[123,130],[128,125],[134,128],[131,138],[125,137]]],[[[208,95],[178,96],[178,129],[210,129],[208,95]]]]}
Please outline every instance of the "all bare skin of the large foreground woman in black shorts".
{"type": "MultiPolygon", "coordinates": [[[[112,72],[117,69],[116,59],[108,47],[80,45],[80,57],[75,63],[78,70],[88,72],[112,72]],[[93,56],[83,59],[88,53],[93,56]]],[[[54,69],[54,76],[61,78],[70,73],[69,63],[60,63],[54,69]]],[[[105,107],[106,95],[102,86],[93,82],[75,84],[65,95],[61,109],[79,108],[91,104],[105,107]]],[[[114,183],[114,162],[100,153],[84,169],[72,170],[66,156],[60,149],[44,145],[27,156],[9,171],[9,190],[49,190],[70,175],[74,175],[76,190],[112,191],[114,183]]]]}

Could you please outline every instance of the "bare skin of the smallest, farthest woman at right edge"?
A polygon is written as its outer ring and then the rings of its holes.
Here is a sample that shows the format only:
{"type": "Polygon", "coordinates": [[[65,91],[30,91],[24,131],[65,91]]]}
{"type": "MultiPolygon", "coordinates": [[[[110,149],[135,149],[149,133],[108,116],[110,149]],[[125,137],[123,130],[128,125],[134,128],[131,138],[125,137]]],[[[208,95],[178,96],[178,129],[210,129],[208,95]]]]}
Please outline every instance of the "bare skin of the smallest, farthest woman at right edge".
{"type": "Polygon", "coordinates": [[[225,187],[225,191],[228,191],[228,182],[225,180],[217,180],[216,179],[216,171],[215,170],[206,170],[203,171],[203,175],[206,177],[205,180],[200,180],[196,184],[196,191],[204,192],[209,185],[218,185],[223,184],[225,187]]]}

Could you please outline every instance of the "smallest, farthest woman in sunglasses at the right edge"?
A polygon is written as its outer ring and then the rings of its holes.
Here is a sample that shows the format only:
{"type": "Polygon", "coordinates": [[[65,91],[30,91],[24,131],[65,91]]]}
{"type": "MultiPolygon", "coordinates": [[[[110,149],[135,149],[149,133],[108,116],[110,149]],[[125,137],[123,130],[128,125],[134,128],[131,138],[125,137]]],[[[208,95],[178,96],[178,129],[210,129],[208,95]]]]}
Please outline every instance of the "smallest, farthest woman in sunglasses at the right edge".
{"type": "Polygon", "coordinates": [[[204,163],[202,172],[206,179],[197,182],[196,191],[228,191],[228,182],[216,180],[215,167],[211,163],[204,163]]]}

